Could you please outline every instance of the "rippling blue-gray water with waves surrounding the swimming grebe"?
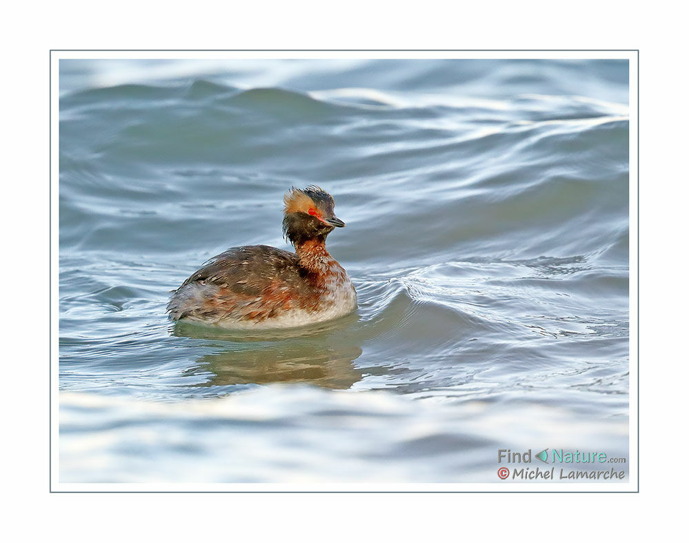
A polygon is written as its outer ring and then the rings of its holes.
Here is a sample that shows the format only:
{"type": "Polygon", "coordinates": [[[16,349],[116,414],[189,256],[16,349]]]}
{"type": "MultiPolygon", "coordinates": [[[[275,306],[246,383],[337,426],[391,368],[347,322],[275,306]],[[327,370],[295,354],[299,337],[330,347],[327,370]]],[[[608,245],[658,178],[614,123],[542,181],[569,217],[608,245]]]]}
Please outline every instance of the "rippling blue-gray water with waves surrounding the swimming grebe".
{"type": "Polygon", "coordinates": [[[59,70],[61,482],[628,458],[627,61],[59,70]],[[347,223],[328,246],[357,314],[268,337],[166,319],[206,259],[287,248],[281,198],[308,184],[347,223]]]}

